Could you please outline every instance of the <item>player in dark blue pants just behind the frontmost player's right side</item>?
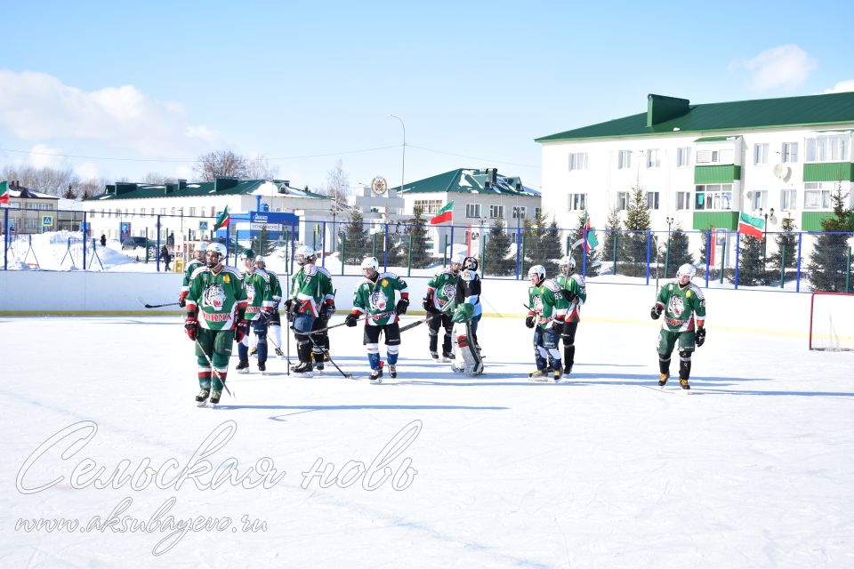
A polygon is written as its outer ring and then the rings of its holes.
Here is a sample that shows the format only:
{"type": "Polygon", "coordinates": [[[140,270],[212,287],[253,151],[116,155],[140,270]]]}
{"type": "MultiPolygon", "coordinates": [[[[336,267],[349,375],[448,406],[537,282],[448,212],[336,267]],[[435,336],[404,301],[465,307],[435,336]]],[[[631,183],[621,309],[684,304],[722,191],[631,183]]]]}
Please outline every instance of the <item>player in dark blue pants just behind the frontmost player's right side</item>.
{"type": "MultiPolygon", "coordinates": [[[[243,260],[243,285],[246,288],[246,318],[252,323],[252,332],[257,336],[258,371],[267,371],[267,323],[273,311],[273,296],[270,294],[270,276],[255,267],[255,252],[246,249],[240,253],[243,260]]],[[[249,338],[238,343],[238,373],[249,373],[249,338]]]]}

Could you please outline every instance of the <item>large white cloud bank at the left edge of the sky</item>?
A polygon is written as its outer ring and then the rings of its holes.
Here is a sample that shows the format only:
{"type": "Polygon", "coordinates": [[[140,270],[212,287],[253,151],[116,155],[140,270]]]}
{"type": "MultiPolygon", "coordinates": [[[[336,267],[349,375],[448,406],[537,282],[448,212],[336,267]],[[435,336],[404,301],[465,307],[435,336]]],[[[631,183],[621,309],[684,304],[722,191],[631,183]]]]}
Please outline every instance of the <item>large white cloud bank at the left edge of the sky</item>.
{"type": "Polygon", "coordinates": [[[83,140],[142,156],[195,156],[217,140],[184,108],[133,85],[85,92],[44,73],[0,69],[0,129],[20,140],[83,140]]]}

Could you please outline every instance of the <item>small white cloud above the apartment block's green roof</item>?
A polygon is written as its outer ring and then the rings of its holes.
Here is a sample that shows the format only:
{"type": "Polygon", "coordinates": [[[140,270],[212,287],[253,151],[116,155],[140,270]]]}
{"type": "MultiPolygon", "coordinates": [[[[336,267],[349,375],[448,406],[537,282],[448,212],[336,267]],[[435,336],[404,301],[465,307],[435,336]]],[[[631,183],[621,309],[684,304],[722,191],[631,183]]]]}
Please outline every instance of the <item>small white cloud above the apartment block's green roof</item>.
{"type": "Polygon", "coordinates": [[[749,60],[735,60],[730,69],[744,69],[748,84],[755,91],[794,88],[806,82],[816,68],[816,60],[794,44],[779,45],[749,60]]]}

